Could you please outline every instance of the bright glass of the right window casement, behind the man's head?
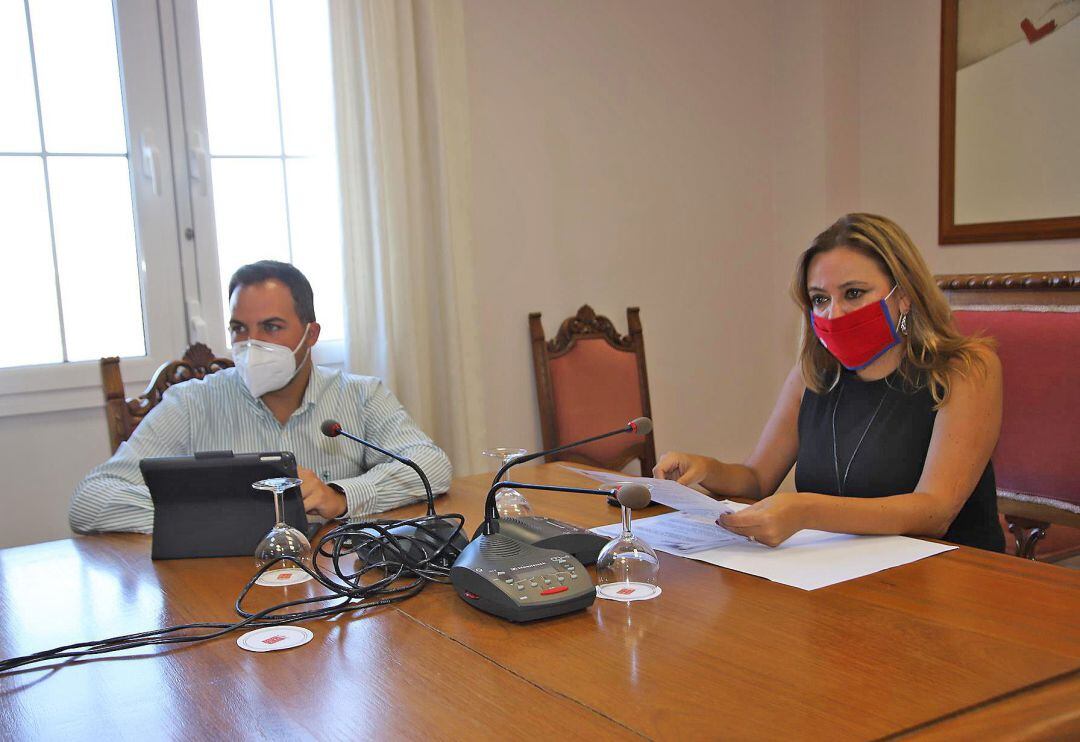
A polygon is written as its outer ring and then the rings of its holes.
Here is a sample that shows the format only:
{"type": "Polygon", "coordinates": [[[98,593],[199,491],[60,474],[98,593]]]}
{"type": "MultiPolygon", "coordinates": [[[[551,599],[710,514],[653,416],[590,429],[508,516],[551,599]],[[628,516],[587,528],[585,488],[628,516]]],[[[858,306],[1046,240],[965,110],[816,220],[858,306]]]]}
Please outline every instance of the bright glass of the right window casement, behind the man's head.
{"type": "Polygon", "coordinates": [[[198,8],[226,312],[225,291],[238,267],[292,260],[311,280],[323,337],[339,339],[341,235],[327,3],[199,0],[198,8]]]}

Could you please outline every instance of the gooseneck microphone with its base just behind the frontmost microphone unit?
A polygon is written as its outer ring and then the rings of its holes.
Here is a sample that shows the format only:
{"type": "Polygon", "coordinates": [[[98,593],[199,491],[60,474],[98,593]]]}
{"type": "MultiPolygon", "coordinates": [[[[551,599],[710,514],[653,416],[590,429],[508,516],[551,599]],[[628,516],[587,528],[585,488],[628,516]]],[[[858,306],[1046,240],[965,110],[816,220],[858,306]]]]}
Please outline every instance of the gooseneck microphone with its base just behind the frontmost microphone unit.
{"type": "MultiPolygon", "coordinates": [[[[524,456],[518,456],[502,466],[499,472],[495,475],[491,485],[500,484],[500,480],[503,474],[507,473],[512,467],[519,463],[526,463],[527,461],[535,461],[543,456],[550,456],[552,454],[558,454],[561,451],[567,450],[569,448],[576,448],[577,446],[583,446],[586,443],[592,443],[593,441],[599,441],[600,439],[611,437],[612,435],[619,435],[621,433],[636,433],[637,435],[648,435],[652,432],[652,420],[647,417],[634,418],[627,422],[624,427],[618,430],[612,430],[607,433],[600,433],[599,435],[594,435],[592,437],[584,439],[583,441],[575,441],[573,443],[567,443],[562,446],[556,446],[554,448],[549,448],[548,450],[536,451],[535,454],[526,454],[524,456]]],[[[505,486],[505,483],[501,483],[505,486]]],[[[523,485],[524,488],[537,489],[534,485],[523,485]]],[[[588,491],[590,494],[595,494],[596,490],[580,490],[573,487],[563,487],[557,488],[555,491],[588,491]]],[[[608,493],[610,495],[610,493],[608,493]]],[[[609,497],[608,502],[612,502],[613,498],[609,497]]],[[[596,557],[599,556],[600,549],[607,543],[607,539],[598,534],[594,534],[588,528],[580,528],[578,526],[571,525],[569,523],[564,523],[562,521],[556,521],[550,517],[543,517],[541,515],[513,515],[499,517],[494,504],[494,496],[491,502],[487,505],[487,511],[484,514],[485,521],[484,525],[476,529],[473,534],[473,539],[481,535],[481,532],[490,534],[490,522],[494,518],[499,520],[499,526],[497,530],[504,536],[509,536],[512,539],[516,539],[522,543],[528,543],[534,547],[540,547],[541,549],[559,549],[562,551],[572,554],[582,564],[590,565],[596,563],[596,557]]],[[[612,504],[619,504],[618,502],[612,502],[612,504]]]]}

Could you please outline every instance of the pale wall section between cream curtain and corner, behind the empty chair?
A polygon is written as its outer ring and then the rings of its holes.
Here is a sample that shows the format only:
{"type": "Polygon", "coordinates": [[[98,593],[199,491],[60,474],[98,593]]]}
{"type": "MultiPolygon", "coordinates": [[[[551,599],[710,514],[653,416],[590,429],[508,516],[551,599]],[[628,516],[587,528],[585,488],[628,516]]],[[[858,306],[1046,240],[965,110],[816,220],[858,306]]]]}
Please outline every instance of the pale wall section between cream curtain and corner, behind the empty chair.
{"type": "Polygon", "coordinates": [[[551,336],[584,302],[623,332],[642,308],[660,449],[753,445],[791,348],[770,332],[775,10],[467,0],[491,445],[540,443],[529,311],[551,336]]]}

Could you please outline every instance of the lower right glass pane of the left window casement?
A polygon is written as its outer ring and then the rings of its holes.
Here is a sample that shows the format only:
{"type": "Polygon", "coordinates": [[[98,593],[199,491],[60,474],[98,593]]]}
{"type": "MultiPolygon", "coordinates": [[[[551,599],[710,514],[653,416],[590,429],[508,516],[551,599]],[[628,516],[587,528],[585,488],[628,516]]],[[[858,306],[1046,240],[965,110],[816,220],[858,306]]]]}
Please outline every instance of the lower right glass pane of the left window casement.
{"type": "Polygon", "coordinates": [[[127,158],[48,165],[68,360],[145,355],[127,158]]]}

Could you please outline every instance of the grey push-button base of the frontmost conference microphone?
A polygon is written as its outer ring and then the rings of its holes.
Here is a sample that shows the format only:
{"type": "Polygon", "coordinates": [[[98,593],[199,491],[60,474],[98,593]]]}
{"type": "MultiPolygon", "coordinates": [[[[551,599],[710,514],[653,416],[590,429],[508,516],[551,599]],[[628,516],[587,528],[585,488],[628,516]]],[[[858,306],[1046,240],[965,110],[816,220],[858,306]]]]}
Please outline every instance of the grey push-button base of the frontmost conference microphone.
{"type": "Polygon", "coordinates": [[[450,569],[461,598],[508,621],[523,622],[588,608],[596,589],[584,565],[569,554],[503,536],[483,536],[450,569]]]}

